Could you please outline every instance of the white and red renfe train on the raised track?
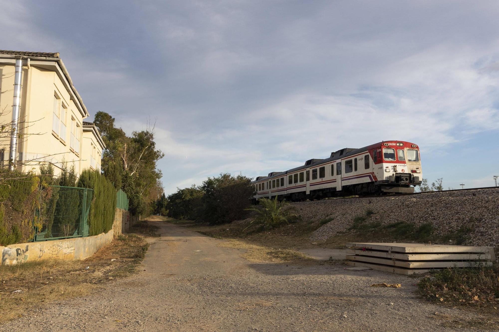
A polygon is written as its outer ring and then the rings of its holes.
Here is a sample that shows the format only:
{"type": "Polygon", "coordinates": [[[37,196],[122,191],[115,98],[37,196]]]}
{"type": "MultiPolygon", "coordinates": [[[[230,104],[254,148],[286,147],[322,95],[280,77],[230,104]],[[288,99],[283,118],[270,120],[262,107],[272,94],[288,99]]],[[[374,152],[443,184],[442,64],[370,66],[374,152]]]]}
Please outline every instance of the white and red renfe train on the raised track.
{"type": "Polygon", "coordinates": [[[361,149],[341,149],[326,159],[258,176],[251,183],[261,197],[291,201],[343,195],[414,192],[421,184],[419,147],[404,141],[383,141],[361,149]]]}

